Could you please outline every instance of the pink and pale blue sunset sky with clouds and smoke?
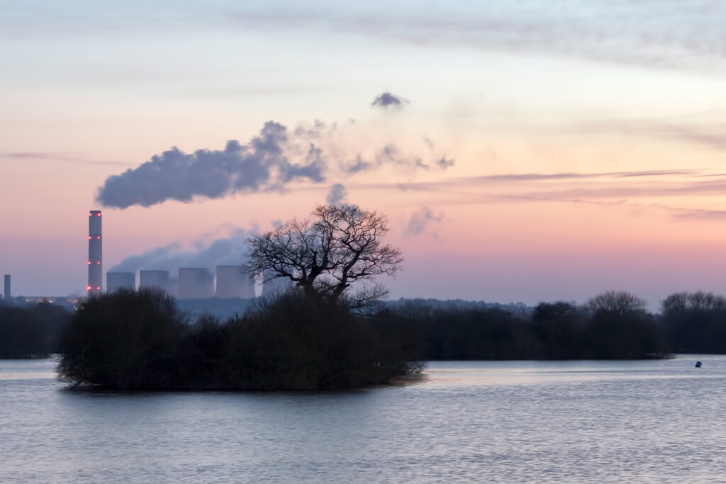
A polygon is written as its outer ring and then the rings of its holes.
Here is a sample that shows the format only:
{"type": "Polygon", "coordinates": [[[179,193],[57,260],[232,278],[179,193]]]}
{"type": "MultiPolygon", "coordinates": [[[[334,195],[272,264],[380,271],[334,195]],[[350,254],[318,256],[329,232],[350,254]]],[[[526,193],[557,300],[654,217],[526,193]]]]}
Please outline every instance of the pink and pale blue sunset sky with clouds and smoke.
{"type": "MultiPolygon", "coordinates": [[[[720,0],[0,0],[0,272],[236,263],[344,202],[391,298],[726,293],[720,0]]],[[[133,269],[132,269],[133,270],[133,269]]]]}

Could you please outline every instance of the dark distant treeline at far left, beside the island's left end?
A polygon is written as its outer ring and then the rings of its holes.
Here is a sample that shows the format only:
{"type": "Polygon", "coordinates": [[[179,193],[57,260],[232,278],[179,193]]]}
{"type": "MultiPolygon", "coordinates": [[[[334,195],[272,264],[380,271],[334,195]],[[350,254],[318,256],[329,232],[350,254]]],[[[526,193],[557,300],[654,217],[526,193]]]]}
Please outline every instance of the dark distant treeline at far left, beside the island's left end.
{"type": "Polygon", "coordinates": [[[44,358],[60,352],[70,313],[60,305],[0,303],[0,358],[44,358]]]}

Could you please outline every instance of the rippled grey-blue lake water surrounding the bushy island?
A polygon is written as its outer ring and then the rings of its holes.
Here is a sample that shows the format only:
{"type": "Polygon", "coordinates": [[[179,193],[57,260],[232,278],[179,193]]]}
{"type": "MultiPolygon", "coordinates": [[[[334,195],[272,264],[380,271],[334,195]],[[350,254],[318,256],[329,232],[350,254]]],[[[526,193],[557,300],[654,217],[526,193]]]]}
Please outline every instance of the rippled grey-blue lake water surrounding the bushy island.
{"type": "Polygon", "coordinates": [[[0,481],[726,483],[725,356],[434,362],[346,393],[54,376],[52,360],[0,361],[0,481]]]}

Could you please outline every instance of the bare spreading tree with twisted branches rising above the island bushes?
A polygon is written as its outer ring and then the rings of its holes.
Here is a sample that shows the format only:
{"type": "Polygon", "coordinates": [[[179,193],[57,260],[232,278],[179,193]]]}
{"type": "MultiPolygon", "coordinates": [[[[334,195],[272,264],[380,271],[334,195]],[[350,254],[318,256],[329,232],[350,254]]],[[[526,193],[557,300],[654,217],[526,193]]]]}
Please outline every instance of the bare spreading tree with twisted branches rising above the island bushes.
{"type": "Polygon", "coordinates": [[[364,283],[401,268],[401,251],[380,242],[388,231],[386,216],[357,205],[318,205],[313,214],[312,221],[293,220],[250,237],[245,270],[290,279],[319,301],[359,307],[385,297],[383,286],[364,283]],[[351,295],[356,282],[363,284],[351,295]]]}

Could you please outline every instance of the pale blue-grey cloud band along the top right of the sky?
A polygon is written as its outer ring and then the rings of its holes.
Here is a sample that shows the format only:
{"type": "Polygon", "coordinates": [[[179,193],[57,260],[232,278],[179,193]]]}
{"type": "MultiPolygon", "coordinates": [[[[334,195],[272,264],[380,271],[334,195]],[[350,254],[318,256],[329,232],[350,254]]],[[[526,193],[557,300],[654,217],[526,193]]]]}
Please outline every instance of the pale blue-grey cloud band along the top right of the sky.
{"type": "Polygon", "coordinates": [[[327,29],[421,47],[463,46],[656,69],[724,70],[726,4],[712,0],[372,1],[355,9],[237,7],[230,17],[251,28],[327,29]],[[380,15],[385,9],[386,15],[380,15]],[[644,19],[647,19],[645,21],[644,19]]]}

